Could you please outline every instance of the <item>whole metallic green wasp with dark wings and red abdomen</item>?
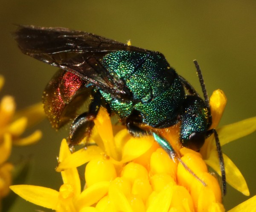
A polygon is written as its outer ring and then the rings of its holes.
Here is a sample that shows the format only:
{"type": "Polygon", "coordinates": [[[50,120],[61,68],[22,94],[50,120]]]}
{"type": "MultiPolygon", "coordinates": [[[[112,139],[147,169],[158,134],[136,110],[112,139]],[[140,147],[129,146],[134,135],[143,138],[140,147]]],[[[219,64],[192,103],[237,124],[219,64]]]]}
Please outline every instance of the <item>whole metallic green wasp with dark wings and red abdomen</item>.
{"type": "Polygon", "coordinates": [[[93,120],[103,106],[110,115],[119,116],[132,136],[153,135],[171,157],[178,157],[154,129],[180,122],[180,142],[193,150],[199,150],[214,133],[225,193],[223,156],[218,134],[210,129],[209,99],[196,61],[204,99],[156,51],[66,28],[20,26],[15,40],[24,54],[60,68],[43,95],[44,109],[54,128],[67,124],[77,108],[91,99],[88,110],[71,124],[71,145],[90,136],[93,120]]]}

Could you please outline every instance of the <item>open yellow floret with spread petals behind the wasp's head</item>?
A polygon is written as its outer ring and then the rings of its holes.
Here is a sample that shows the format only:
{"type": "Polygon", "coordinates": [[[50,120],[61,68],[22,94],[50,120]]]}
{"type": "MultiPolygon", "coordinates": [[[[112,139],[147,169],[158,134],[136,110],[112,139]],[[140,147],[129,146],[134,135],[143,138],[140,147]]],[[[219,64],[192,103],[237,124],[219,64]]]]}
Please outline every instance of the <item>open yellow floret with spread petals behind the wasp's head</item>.
{"type": "MultiPolygon", "coordinates": [[[[223,91],[215,90],[210,98],[210,105],[213,117],[212,128],[217,127],[218,122],[220,121],[222,113],[224,111],[226,102],[227,99],[223,91]]],[[[217,129],[221,146],[224,146],[225,144],[241,137],[247,136],[248,134],[253,133],[255,130],[256,117],[245,119],[233,124],[228,124],[224,127],[220,127],[217,129]]],[[[207,165],[212,167],[212,169],[220,175],[218,153],[216,150],[215,138],[213,135],[206,140],[204,146],[200,150],[200,153],[203,155],[204,161],[207,163],[207,165]]],[[[250,192],[243,175],[236,167],[236,165],[230,160],[230,158],[227,157],[227,155],[223,153],[223,157],[227,183],[244,195],[249,196],[250,192]]]]}

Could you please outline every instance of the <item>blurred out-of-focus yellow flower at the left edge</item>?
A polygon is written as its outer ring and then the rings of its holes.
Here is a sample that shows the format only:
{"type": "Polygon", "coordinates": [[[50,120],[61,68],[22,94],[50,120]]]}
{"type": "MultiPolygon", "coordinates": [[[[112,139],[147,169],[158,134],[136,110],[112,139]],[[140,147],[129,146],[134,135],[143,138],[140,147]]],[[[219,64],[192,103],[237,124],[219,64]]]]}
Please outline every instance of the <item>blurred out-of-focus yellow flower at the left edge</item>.
{"type": "MultiPolygon", "coordinates": [[[[0,76],[0,89],[4,78],[0,76]]],[[[28,110],[15,113],[15,101],[12,96],[4,96],[0,101],[0,198],[9,193],[12,183],[13,165],[6,162],[12,151],[12,144],[26,145],[41,138],[41,131],[37,130],[26,138],[20,138],[26,127],[44,117],[42,106],[34,105],[28,110]],[[35,116],[35,114],[38,114],[35,116]]]]}

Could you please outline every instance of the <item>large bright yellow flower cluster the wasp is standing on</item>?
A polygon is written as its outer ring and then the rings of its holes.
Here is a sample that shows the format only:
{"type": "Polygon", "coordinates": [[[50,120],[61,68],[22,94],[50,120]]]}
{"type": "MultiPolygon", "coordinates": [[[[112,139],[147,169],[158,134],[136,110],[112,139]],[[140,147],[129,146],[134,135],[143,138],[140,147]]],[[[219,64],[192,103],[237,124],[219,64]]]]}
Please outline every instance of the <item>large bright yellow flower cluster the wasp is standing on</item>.
{"type": "MultiPolygon", "coordinates": [[[[218,90],[210,100],[214,127],[217,126],[224,110],[223,102],[226,100],[223,97],[224,94],[218,90]]],[[[253,120],[255,122],[255,118],[253,120]]],[[[240,123],[242,125],[240,129],[245,125],[247,125],[246,128],[249,125],[251,127],[252,123],[251,120],[245,120],[242,124],[240,123]]],[[[223,133],[230,133],[225,134],[224,143],[231,141],[234,133],[245,136],[255,130],[254,124],[254,128],[245,130],[246,133],[233,132],[232,128],[238,124],[218,129],[221,139],[224,139],[223,133]]],[[[216,153],[214,139],[207,139],[201,155],[186,148],[180,149],[177,145],[178,130],[177,125],[160,130],[159,133],[174,144],[174,148],[183,155],[182,161],[207,184],[206,186],[192,176],[183,165],[172,160],[152,136],[134,138],[129,135],[124,126],[119,125],[113,126],[112,129],[108,113],[105,108],[101,108],[95,120],[90,145],[70,153],[66,141],[61,142],[56,171],[61,172],[64,184],[59,191],[30,185],[11,186],[11,189],[34,204],[60,212],[224,211],[218,181],[208,173],[204,162],[205,159],[207,164],[219,170],[219,166],[216,165],[218,156],[213,157],[216,153]],[[81,189],[76,167],[86,163],[84,172],[86,184],[81,189]]],[[[227,162],[226,156],[224,160],[227,181],[232,184],[232,179],[229,178],[234,177],[230,173],[234,165],[227,162]]],[[[243,179],[240,175],[241,173],[236,174],[239,180],[243,179]]],[[[242,187],[247,189],[247,186],[242,187]]],[[[238,189],[247,194],[246,189],[240,187],[238,189]]],[[[248,208],[252,208],[252,201],[248,202],[248,208]]]]}

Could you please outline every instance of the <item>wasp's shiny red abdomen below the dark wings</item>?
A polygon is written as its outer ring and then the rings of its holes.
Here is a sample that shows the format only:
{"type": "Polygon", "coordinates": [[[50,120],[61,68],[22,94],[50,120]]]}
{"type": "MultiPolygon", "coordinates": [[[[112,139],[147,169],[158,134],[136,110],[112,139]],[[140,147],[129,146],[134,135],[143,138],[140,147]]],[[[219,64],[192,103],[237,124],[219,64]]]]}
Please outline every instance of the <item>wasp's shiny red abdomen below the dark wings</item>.
{"type": "Polygon", "coordinates": [[[59,129],[76,118],[76,111],[90,98],[92,87],[86,88],[79,76],[59,69],[47,84],[42,101],[52,127],[59,129]]]}

